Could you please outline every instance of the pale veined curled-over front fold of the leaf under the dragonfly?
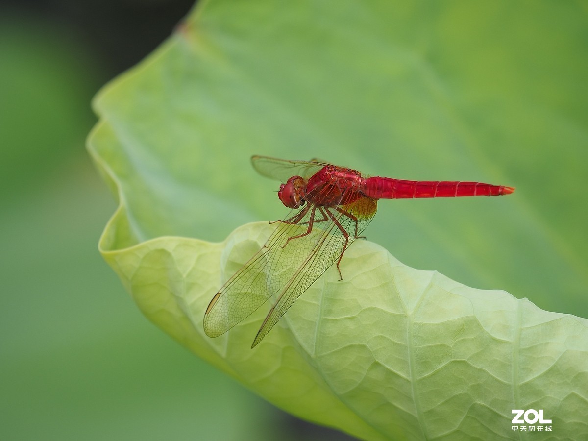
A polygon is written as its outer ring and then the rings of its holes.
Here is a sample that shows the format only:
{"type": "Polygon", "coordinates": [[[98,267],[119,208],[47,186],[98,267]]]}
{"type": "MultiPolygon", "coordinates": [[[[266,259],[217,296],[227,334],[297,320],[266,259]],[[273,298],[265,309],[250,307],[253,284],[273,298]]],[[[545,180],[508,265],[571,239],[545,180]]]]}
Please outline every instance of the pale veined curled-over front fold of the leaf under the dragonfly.
{"type": "Polygon", "coordinates": [[[345,280],[331,268],[256,350],[264,308],[208,338],[209,300],[272,229],[104,256],[156,325],[296,416],[362,439],[487,438],[512,436],[512,409],[550,409],[554,436],[588,435],[588,320],[409,268],[371,242],[356,242],[345,280]]]}

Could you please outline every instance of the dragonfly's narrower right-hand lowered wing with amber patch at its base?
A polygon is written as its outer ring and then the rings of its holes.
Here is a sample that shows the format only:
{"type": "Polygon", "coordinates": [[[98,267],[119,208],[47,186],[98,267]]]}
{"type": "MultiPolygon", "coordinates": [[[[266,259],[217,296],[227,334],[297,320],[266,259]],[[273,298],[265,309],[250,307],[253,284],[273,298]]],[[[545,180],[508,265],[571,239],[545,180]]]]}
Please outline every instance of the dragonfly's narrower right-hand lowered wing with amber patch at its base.
{"type": "MultiPolygon", "coordinates": [[[[285,285],[277,293],[278,300],[266,316],[258,334],[253,340],[252,348],[266,336],[278,323],[292,304],[315,282],[333,263],[338,262],[345,249],[368,226],[376,214],[377,202],[371,198],[342,206],[340,211],[326,209],[327,219],[315,222],[312,240],[307,236],[290,240],[288,246],[295,246],[300,253],[300,266],[293,272],[285,285]],[[357,223],[356,223],[357,220],[357,223]],[[346,239],[348,236],[348,239],[346,239]]],[[[318,214],[319,210],[316,210],[318,214]]],[[[288,247],[286,247],[288,248],[288,247]]]]}

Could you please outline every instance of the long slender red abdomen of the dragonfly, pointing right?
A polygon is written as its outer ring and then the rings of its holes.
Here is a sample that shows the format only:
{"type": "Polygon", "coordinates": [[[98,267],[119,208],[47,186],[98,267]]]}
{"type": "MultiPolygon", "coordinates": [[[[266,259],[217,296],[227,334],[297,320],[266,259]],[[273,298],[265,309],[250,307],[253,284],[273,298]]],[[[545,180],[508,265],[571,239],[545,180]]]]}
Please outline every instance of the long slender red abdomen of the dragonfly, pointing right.
{"type": "Polygon", "coordinates": [[[457,196],[500,196],[515,191],[513,187],[483,182],[406,181],[405,179],[363,179],[362,193],[373,199],[455,198],[457,196]]]}

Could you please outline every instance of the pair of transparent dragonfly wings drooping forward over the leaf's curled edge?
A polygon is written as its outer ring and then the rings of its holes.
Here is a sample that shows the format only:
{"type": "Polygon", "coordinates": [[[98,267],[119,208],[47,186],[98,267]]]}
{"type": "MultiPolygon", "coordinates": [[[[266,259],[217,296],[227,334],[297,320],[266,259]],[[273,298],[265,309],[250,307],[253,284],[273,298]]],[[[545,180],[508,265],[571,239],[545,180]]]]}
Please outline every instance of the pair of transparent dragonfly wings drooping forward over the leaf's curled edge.
{"type": "Polygon", "coordinates": [[[276,295],[253,342],[257,345],[300,294],[338,262],[376,208],[374,199],[364,197],[339,210],[309,204],[292,210],[288,219],[278,221],[262,249],[216,293],[204,316],[206,334],[225,333],[276,295]]]}

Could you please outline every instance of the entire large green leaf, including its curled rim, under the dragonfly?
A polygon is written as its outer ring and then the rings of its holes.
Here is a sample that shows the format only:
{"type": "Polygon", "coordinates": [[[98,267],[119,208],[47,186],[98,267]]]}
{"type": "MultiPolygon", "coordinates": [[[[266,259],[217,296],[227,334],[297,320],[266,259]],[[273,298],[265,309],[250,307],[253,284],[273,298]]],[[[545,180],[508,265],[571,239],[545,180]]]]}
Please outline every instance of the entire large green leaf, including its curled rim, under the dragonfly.
{"type": "Polygon", "coordinates": [[[89,151],[119,201],[100,249],[146,316],[294,415],[365,439],[520,437],[512,409],[588,436],[580,4],[199,4],[97,96],[89,151]],[[254,350],[268,308],[208,338],[222,283],[285,210],[252,154],[515,185],[382,201],[254,350]],[[557,168],[554,168],[557,163],[557,168]],[[547,179],[546,177],[549,177],[547,179]],[[198,238],[198,239],[191,239],[198,238]]]}

